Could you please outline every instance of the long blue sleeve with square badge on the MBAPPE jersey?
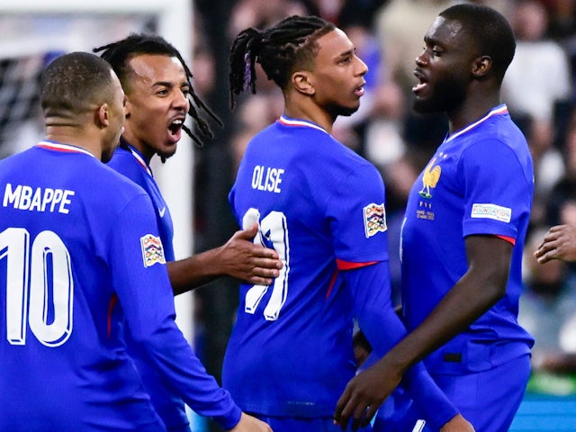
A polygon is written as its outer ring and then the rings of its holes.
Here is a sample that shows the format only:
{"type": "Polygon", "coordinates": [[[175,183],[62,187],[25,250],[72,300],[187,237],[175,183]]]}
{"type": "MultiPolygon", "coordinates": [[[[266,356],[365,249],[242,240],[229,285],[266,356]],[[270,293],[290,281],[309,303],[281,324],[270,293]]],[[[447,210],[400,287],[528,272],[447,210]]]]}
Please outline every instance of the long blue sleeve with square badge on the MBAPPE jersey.
{"type": "Polygon", "coordinates": [[[174,297],[148,196],[139,195],[120,212],[110,243],[112,281],[130,336],[194,411],[233,428],[240,409],[207,374],[175,324],[174,297]]]}

